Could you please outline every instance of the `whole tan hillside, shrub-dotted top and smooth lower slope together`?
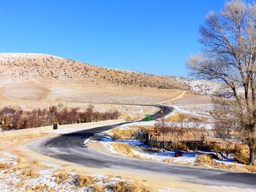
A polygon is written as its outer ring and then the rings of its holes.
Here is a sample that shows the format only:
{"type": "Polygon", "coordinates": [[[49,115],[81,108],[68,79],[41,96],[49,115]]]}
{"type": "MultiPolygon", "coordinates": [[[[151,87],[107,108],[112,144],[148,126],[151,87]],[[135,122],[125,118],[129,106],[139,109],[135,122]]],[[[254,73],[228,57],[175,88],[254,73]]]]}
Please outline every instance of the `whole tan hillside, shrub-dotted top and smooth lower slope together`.
{"type": "Polygon", "coordinates": [[[91,66],[35,53],[0,53],[0,101],[155,103],[192,90],[176,77],[91,66]]]}

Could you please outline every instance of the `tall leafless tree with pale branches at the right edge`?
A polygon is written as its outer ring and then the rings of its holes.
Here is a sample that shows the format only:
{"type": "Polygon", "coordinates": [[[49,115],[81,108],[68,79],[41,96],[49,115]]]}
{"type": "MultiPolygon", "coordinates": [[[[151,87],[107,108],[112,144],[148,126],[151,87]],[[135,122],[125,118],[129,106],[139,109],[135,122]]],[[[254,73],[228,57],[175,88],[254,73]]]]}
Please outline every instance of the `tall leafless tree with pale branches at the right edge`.
{"type": "Polygon", "coordinates": [[[256,164],[256,4],[227,1],[210,12],[200,27],[204,50],[187,61],[195,77],[225,82],[234,101],[227,104],[236,131],[249,146],[249,162],[256,164]],[[241,94],[240,94],[241,93],[241,94]]]}

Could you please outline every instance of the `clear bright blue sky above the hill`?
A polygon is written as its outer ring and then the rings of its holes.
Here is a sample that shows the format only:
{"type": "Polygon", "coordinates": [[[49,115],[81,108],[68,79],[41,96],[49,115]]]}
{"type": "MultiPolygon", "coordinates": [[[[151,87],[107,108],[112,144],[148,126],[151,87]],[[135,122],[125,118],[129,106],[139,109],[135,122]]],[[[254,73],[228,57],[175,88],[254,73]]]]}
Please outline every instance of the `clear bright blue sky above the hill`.
{"type": "Polygon", "coordinates": [[[222,0],[1,0],[0,52],[187,76],[198,28],[222,0]]]}

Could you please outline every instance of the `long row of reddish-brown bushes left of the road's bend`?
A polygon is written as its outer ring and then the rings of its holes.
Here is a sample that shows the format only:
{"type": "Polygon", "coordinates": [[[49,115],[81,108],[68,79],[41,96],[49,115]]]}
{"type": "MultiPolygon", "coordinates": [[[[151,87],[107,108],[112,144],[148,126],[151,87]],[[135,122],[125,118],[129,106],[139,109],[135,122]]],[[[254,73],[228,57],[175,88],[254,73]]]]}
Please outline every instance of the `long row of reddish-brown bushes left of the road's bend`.
{"type": "Polygon", "coordinates": [[[0,127],[4,130],[34,128],[50,126],[53,123],[60,125],[72,123],[87,123],[98,120],[112,120],[120,116],[115,111],[95,112],[94,106],[89,105],[86,110],[79,108],[68,109],[63,104],[51,106],[48,109],[22,110],[4,107],[0,110],[0,127]]]}

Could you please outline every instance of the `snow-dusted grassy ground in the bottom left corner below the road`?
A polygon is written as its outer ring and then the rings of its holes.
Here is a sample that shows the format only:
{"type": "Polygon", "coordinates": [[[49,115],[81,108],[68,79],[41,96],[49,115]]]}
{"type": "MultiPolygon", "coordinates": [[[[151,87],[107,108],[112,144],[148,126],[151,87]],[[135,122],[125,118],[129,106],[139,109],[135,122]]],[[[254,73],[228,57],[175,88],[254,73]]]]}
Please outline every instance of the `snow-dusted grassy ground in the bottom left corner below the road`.
{"type": "Polygon", "coordinates": [[[30,167],[19,166],[18,157],[1,151],[0,153],[0,191],[94,191],[94,186],[102,186],[104,191],[111,192],[111,188],[120,182],[133,183],[132,180],[124,180],[121,177],[108,177],[98,174],[77,174],[64,172],[59,165],[43,162],[45,166],[30,167]],[[4,166],[6,167],[4,168],[4,166]],[[17,165],[17,166],[15,166],[17,165]],[[26,170],[37,172],[36,176],[26,175],[26,170]],[[57,176],[56,176],[57,175],[57,176]],[[80,184],[79,178],[91,177],[91,183],[80,184]]]}

